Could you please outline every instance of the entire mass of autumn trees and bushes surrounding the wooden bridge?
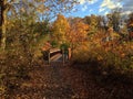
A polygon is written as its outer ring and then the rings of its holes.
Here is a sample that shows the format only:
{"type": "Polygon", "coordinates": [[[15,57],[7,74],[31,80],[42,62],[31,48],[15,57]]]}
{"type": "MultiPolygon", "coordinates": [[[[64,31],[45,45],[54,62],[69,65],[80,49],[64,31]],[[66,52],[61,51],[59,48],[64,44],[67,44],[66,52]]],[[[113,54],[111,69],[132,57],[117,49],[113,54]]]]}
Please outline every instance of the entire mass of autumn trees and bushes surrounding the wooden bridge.
{"type": "MultiPolygon", "coordinates": [[[[65,18],[63,11],[70,11],[76,0],[2,1],[0,96],[7,99],[13,89],[21,89],[31,79],[33,68],[48,65],[41,51],[53,47],[65,48],[66,53],[71,50],[69,65],[80,64],[86,74],[92,68],[92,73],[101,76],[96,81],[121,77],[124,82],[133,80],[133,13],[122,24],[123,19],[116,11],[106,16],[65,18]]],[[[61,77],[55,66],[48,68],[52,76],[55,74],[53,79],[61,77]]]]}

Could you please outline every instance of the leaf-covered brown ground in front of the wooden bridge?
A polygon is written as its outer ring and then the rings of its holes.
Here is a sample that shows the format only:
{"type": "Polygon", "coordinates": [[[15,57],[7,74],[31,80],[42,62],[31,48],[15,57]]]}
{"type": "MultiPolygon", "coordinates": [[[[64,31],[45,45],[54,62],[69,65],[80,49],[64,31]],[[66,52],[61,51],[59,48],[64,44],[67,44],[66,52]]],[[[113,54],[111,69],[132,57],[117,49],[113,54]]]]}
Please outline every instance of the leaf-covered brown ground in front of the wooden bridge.
{"type": "Polygon", "coordinates": [[[95,81],[91,69],[84,67],[55,63],[34,66],[29,74],[31,78],[23,80],[20,88],[12,89],[7,99],[133,99],[133,85],[101,85],[95,81]]]}

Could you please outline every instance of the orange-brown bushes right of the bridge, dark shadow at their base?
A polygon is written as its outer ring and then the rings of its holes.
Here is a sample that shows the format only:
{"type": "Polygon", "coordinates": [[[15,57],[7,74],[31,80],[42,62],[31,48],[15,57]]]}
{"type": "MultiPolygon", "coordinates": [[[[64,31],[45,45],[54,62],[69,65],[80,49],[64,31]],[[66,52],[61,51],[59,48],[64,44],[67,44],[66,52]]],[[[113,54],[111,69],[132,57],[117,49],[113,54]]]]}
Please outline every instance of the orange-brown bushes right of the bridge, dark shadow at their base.
{"type": "Polygon", "coordinates": [[[129,43],[117,44],[115,47],[112,45],[81,45],[74,51],[73,62],[92,65],[92,68],[96,67],[94,70],[100,72],[103,78],[110,76],[109,78],[123,80],[133,79],[132,51],[129,43]]]}

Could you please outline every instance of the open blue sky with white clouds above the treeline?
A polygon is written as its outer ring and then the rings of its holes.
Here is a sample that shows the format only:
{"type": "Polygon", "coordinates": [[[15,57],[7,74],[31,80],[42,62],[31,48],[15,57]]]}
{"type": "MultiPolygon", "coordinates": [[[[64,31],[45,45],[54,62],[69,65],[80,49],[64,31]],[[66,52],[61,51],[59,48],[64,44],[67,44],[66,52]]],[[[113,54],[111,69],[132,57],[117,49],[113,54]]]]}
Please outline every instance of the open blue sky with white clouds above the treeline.
{"type": "Polygon", "coordinates": [[[74,6],[73,11],[68,16],[85,16],[90,14],[105,15],[115,8],[121,8],[123,14],[133,12],[133,0],[78,0],[80,4],[74,6]]]}

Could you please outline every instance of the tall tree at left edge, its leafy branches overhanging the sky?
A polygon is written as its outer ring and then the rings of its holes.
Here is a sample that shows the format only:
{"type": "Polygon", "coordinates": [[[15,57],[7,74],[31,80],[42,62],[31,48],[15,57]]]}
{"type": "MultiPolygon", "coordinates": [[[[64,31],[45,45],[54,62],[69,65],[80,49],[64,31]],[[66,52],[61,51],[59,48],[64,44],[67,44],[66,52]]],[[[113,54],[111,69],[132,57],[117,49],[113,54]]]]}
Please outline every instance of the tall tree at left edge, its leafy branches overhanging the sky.
{"type": "Polygon", "coordinates": [[[6,48],[7,15],[12,15],[13,13],[17,13],[17,16],[21,16],[21,14],[30,14],[30,12],[33,11],[34,14],[38,15],[38,18],[40,18],[40,14],[55,15],[59,12],[70,11],[74,3],[76,3],[76,0],[1,0],[1,47],[3,50],[6,48]],[[12,7],[14,8],[13,12],[11,11],[12,7]],[[8,13],[9,11],[10,13],[8,13]]]}

